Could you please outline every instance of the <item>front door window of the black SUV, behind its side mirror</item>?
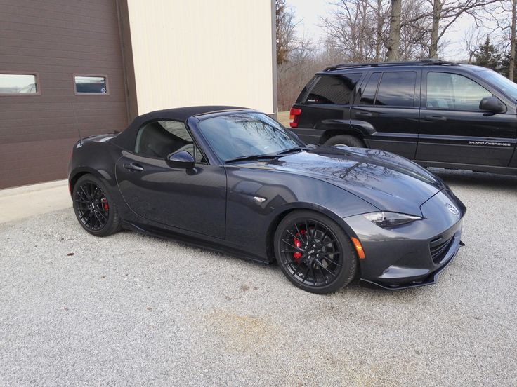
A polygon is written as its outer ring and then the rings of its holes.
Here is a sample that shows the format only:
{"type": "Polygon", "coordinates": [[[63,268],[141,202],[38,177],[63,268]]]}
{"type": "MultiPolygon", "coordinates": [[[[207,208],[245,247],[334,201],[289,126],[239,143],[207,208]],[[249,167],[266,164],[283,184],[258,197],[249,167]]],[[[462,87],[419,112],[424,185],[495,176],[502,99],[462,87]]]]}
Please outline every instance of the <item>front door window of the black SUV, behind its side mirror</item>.
{"type": "Polygon", "coordinates": [[[427,107],[479,110],[479,103],[492,93],[466,76],[444,72],[427,74],[427,107]]]}

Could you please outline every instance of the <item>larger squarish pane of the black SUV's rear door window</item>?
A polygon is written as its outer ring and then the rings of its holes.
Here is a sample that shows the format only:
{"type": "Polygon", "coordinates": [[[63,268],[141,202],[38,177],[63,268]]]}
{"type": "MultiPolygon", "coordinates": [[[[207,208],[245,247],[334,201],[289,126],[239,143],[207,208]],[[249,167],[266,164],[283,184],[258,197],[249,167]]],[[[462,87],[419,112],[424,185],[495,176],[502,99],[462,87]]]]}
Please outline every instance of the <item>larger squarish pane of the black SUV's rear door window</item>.
{"type": "Polygon", "coordinates": [[[416,72],[385,72],[382,74],[375,104],[381,106],[414,106],[416,72]]]}

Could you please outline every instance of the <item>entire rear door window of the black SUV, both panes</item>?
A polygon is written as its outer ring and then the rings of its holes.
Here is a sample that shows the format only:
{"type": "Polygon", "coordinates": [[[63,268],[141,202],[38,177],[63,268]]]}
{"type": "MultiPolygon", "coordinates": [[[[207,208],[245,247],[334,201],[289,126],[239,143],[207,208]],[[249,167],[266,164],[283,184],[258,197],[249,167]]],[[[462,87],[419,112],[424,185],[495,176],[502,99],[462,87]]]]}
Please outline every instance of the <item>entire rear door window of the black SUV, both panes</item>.
{"type": "Polygon", "coordinates": [[[360,104],[377,106],[413,107],[416,72],[376,72],[370,77],[360,104]],[[381,83],[379,84],[379,78],[381,83]],[[379,88],[377,89],[377,84],[379,88]],[[376,95],[377,91],[377,95],[376,95]]]}

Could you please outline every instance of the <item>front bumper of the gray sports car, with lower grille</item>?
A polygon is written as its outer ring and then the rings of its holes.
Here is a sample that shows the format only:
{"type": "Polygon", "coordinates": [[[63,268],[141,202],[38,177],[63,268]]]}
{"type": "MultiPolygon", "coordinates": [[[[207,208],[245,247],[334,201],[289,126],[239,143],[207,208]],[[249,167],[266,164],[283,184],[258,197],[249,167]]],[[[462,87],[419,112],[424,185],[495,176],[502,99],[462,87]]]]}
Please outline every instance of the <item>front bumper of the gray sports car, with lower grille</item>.
{"type": "Polygon", "coordinates": [[[465,211],[459,199],[440,191],[421,205],[424,219],[394,229],[382,229],[362,215],[343,219],[365,252],[359,261],[362,285],[394,290],[436,283],[462,245],[465,211]]]}

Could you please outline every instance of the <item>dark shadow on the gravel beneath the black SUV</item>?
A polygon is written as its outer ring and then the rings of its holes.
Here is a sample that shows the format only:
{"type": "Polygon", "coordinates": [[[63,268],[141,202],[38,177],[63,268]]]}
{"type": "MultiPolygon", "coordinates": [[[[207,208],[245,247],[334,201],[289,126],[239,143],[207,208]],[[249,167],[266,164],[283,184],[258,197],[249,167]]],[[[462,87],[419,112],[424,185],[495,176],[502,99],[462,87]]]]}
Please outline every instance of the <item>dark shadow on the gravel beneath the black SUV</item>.
{"type": "Polygon", "coordinates": [[[429,170],[441,177],[447,184],[497,189],[517,188],[517,176],[496,175],[494,173],[472,172],[469,170],[445,170],[442,168],[429,168],[429,170]]]}

